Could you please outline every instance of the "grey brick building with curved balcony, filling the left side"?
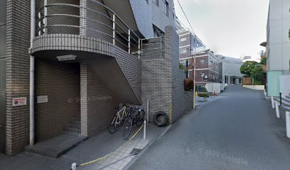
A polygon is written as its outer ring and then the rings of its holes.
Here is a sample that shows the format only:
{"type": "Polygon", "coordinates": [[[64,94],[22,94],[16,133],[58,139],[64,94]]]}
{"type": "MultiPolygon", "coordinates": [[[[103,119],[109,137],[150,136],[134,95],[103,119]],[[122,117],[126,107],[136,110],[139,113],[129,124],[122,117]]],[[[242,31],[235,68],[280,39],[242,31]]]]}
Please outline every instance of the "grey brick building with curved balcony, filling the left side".
{"type": "Polygon", "coordinates": [[[0,152],[63,132],[90,137],[119,103],[151,100],[150,119],[173,106],[174,122],[190,107],[175,20],[173,0],[1,1],[0,152]]]}

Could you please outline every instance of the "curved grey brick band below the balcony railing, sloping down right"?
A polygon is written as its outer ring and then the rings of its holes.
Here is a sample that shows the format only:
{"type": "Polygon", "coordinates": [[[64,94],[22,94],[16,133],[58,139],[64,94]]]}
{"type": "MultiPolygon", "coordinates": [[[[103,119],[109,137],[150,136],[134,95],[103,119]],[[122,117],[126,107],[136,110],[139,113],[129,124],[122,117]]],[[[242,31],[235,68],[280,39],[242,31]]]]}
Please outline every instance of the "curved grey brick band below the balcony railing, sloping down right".
{"type": "MultiPolygon", "coordinates": [[[[122,69],[129,86],[141,101],[141,60],[112,43],[82,35],[47,34],[36,37],[33,41],[33,53],[43,50],[72,50],[77,52],[95,52],[114,57],[122,69]]],[[[37,57],[37,56],[36,56],[37,57]]]]}

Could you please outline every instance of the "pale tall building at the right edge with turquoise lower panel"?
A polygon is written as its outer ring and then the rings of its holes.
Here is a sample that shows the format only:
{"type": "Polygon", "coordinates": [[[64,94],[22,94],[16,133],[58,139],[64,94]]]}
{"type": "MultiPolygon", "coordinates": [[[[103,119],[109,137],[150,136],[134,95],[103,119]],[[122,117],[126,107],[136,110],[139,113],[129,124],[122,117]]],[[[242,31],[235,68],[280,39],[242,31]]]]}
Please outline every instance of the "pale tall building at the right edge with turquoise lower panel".
{"type": "Polygon", "coordinates": [[[289,73],[290,1],[270,0],[267,23],[267,96],[279,96],[279,76],[289,73]]]}

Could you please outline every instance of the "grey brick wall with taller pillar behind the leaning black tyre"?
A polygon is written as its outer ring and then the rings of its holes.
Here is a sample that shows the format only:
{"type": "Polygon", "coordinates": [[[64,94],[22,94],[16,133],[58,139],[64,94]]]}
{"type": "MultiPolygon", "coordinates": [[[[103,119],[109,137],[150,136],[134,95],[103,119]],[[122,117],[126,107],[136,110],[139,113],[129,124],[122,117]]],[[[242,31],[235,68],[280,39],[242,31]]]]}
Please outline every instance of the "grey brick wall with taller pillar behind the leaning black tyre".
{"type": "Polygon", "coordinates": [[[171,123],[173,123],[186,110],[188,105],[185,106],[186,96],[183,87],[185,75],[178,66],[179,38],[171,26],[166,27],[165,30],[164,57],[154,59],[154,55],[159,55],[153,54],[144,55],[141,58],[141,93],[144,108],[146,108],[146,101],[150,101],[149,119],[151,121],[157,111],[164,111],[172,118],[171,123]]]}

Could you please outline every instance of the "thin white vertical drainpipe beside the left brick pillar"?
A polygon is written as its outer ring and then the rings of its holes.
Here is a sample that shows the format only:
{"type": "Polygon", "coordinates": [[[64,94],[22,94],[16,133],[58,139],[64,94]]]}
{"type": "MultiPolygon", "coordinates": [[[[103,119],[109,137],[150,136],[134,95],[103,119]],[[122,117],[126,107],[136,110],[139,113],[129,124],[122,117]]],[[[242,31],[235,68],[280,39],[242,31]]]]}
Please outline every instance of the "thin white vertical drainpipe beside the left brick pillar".
{"type": "Polygon", "coordinates": [[[33,39],[36,34],[36,0],[31,0],[31,46],[30,55],[30,89],[29,89],[29,144],[34,145],[34,56],[32,55],[33,39]]]}

